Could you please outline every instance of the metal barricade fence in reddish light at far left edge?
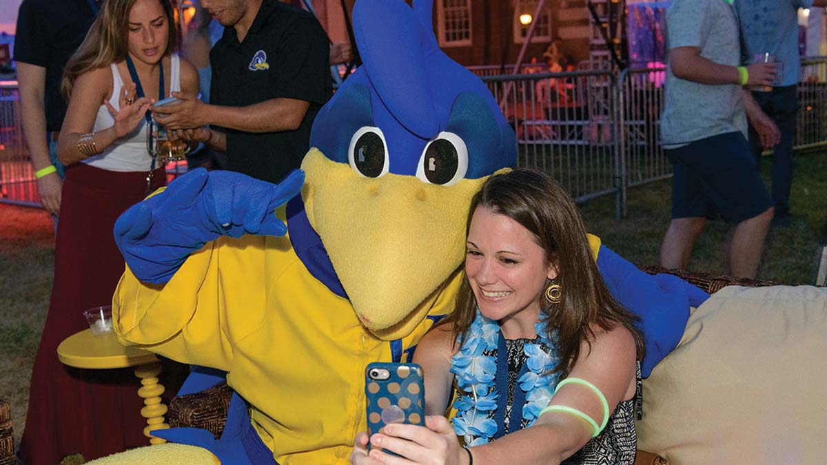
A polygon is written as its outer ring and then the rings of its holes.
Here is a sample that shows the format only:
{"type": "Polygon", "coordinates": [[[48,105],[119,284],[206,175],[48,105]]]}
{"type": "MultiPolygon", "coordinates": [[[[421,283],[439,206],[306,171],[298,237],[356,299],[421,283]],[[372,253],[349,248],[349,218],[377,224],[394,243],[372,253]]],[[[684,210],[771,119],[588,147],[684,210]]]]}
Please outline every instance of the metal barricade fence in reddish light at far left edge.
{"type": "Polygon", "coordinates": [[[35,173],[23,137],[17,83],[0,83],[0,201],[38,206],[35,173]]]}

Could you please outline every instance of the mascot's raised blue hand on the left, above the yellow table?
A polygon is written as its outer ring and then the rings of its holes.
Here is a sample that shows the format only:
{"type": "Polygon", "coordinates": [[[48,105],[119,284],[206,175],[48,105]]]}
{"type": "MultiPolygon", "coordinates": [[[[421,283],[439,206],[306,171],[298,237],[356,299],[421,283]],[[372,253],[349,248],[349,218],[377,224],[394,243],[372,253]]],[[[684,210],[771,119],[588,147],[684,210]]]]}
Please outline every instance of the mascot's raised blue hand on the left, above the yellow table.
{"type": "Polygon", "coordinates": [[[222,235],[284,236],[287,227],[273,211],[303,184],[301,170],[274,185],[240,173],[198,168],[117,218],[115,243],[139,280],[162,284],[190,253],[222,235]]]}

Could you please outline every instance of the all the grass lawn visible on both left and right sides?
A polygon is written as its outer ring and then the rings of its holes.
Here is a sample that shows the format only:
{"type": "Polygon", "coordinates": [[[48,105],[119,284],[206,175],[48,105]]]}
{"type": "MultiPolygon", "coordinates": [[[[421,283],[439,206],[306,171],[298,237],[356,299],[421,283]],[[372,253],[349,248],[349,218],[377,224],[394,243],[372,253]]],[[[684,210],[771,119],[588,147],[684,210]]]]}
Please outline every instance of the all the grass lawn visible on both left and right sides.
{"type": "MultiPolygon", "coordinates": [[[[769,160],[763,161],[767,173],[769,160]]],[[[799,157],[791,209],[795,218],[770,231],[758,277],[783,283],[815,279],[815,251],[827,242],[827,155],[799,157]]],[[[660,181],[629,191],[629,218],[614,219],[614,198],[581,205],[590,232],[638,264],[657,265],[670,220],[671,183],[660,181]]],[[[725,273],[729,225],[707,223],[690,269],[725,273]]],[[[0,204],[0,398],[12,405],[15,439],[20,440],[28,402],[31,364],[49,306],[54,244],[50,216],[41,209],[0,204]]]]}

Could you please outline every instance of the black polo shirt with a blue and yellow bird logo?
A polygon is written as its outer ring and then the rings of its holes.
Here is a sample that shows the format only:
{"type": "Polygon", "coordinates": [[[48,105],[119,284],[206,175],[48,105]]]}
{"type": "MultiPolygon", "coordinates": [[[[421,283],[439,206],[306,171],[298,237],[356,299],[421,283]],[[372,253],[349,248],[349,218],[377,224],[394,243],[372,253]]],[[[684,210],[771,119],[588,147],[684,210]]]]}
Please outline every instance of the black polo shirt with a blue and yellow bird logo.
{"type": "Polygon", "coordinates": [[[272,98],[295,98],[310,108],[295,131],[254,134],[227,129],[228,169],[278,182],[299,168],[310,127],[332,93],[327,35],[315,17],[276,0],[264,0],[244,41],[232,26],[210,51],[210,103],[242,107],[272,98]]]}

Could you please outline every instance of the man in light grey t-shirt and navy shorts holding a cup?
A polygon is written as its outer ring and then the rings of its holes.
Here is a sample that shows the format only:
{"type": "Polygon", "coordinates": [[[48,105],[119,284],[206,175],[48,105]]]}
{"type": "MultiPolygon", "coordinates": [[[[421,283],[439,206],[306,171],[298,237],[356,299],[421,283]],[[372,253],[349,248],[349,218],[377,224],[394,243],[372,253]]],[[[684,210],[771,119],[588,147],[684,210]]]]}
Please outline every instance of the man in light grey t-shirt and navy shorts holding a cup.
{"type": "Polygon", "coordinates": [[[672,223],[663,238],[661,265],[686,267],[706,215],[715,209],[737,225],[730,272],[755,276],[772,204],[750,155],[747,119],[766,146],[780,136],[742,86],[772,84],[775,65],[739,67],[738,21],[727,0],[675,0],[667,11],[667,33],[661,135],[674,175],[672,223]]]}

